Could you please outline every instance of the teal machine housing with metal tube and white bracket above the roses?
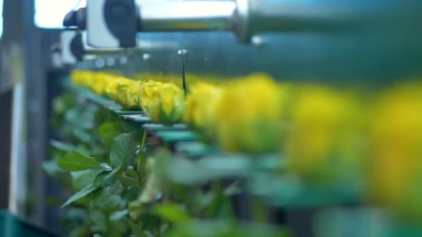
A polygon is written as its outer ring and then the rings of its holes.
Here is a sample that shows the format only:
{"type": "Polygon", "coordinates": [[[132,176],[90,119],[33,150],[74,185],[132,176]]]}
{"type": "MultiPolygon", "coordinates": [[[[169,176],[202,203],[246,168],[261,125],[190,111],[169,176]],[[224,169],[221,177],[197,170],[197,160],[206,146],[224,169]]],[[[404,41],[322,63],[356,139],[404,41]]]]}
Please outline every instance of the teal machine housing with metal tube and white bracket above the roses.
{"type": "Polygon", "coordinates": [[[169,73],[187,49],[187,67],[198,73],[379,84],[418,73],[420,9],[417,1],[378,0],[87,1],[64,25],[86,30],[96,48],[138,44],[169,73]]]}

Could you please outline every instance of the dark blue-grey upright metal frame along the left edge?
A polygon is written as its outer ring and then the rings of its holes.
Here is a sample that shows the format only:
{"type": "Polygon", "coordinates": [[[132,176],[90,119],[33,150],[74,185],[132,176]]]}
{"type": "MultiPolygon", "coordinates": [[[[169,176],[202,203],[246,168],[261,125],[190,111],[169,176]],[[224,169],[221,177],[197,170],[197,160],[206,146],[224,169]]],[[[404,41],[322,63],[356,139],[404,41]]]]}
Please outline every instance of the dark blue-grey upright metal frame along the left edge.
{"type": "MultiPolygon", "coordinates": [[[[53,43],[58,42],[59,30],[44,30],[34,25],[34,1],[26,0],[5,0],[3,3],[4,31],[0,42],[0,50],[9,52],[12,47],[17,47],[22,52],[22,60],[19,67],[23,69],[23,78],[11,78],[12,73],[8,68],[1,69],[2,80],[21,80],[24,82],[25,94],[25,119],[26,128],[26,166],[28,172],[28,202],[23,207],[21,214],[28,216],[29,220],[37,225],[46,224],[46,193],[47,176],[42,171],[42,161],[47,156],[47,105],[50,98],[47,96],[47,72],[51,69],[50,48],[53,43]]],[[[1,59],[2,65],[10,60],[10,55],[1,59]]],[[[12,85],[12,83],[3,83],[12,85]]],[[[3,88],[4,89],[4,88],[3,88]]],[[[5,89],[6,93],[1,94],[0,108],[0,154],[1,163],[0,180],[2,192],[0,195],[0,208],[8,208],[8,184],[10,164],[10,128],[12,116],[12,87],[5,89]]],[[[15,120],[15,119],[14,119],[15,120]]],[[[56,220],[58,219],[55,217],[56,220]]],[[[51,222],[54,218],[49,218],[51,222]]]]}

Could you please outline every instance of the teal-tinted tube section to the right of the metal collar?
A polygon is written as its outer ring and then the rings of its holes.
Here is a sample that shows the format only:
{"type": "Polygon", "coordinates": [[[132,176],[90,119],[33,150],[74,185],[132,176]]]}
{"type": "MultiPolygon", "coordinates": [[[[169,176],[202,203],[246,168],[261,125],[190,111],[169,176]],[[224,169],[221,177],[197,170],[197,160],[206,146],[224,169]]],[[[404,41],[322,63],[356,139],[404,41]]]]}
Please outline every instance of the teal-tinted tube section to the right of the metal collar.
{"type": "Polygon", "coordinates": [[[362,26],[371,1],[248,0],[251,33],[346,30],[362,26]]]}

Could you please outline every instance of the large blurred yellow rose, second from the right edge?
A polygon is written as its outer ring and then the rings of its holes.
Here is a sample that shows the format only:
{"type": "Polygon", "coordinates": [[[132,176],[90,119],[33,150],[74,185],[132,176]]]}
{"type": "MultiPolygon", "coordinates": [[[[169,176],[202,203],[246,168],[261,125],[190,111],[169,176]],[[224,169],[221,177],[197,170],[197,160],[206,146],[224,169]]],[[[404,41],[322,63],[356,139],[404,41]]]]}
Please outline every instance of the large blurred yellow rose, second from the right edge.
{"type": "Polygon", "coordinates": [[[283,152],[312,182],[356,175],[364,156],[364,112],[357,97],[318,85],[298,89],[283,152]]]}

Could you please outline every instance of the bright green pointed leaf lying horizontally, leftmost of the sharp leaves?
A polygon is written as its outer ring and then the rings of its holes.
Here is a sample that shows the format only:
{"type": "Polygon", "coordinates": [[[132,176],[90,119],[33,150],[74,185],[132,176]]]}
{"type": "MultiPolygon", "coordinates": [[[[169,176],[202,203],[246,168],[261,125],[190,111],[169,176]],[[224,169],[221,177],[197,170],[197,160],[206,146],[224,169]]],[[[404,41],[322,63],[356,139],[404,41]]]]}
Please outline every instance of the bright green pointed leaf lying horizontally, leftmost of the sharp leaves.
{"type": "Polygon", "coordinates": [[[78,171],[87,170],[89,168],[98,168],[100,164],[96,159],[87,157],[77,151],[69,151],[64,157],[57,160],[57,165],[62,170],[78,171]]]}

